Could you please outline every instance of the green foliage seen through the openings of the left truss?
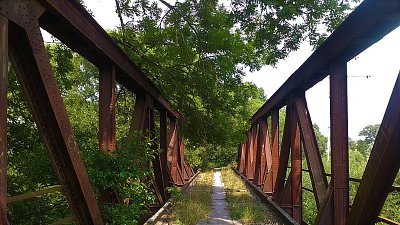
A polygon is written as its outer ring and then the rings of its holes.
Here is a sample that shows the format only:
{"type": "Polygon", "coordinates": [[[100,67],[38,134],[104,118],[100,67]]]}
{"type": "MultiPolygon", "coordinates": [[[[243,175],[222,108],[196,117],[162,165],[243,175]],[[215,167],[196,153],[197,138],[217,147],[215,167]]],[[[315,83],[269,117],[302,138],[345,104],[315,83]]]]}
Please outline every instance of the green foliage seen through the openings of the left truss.
{"type": "MultiPolygon", "coordinates": [[[[152,140],[143,135],[133,133],[127,137],[135,99],[124,88],[117,87],[118,151],[101,153],[97,136],[98,69],[63,44],[47,45],[46,49],[96,194],[109,188],[129,199],[128,205],[102,206],[103,215],[114,224],[128,220],[132,224],[154,200],[151,183],[141,180],[151,173],[145,165],[158,152],[150,148],[152,140]]],[[[8,101],[8,194],[14,196],[59,184],[13,70],[8,101]]],[[[61,193],[11,203],[8,212],[12,224],[50,224],[70,214],[61,193]]]]}

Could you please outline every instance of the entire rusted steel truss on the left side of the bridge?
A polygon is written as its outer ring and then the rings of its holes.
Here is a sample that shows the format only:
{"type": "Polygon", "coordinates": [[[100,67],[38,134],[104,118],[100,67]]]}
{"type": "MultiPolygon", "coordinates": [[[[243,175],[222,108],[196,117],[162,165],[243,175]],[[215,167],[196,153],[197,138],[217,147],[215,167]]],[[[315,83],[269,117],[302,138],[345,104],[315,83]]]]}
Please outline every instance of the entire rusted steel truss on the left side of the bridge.
{"type": "MultiPolygon", "coordinates": [[[[53,162],[73,220],[103,224],[87,170],[45,49],[40,28],[47,30],[99,69],[99,147],[116,150],[116,82],[136,95],[129,132],[155,136],[159,113],[159,140],[163,151],[152,166],[158,206],[170,196],[167,187],[184,185],[194,173],[184,160],[184,140],[178,135],[180,114],[161,97],[154,84],[133,64],[90,14],[74,0],[0,0],[0,223],[8,224],[7,202],[38,193],[7,196],[7,83],[10,60],[22,86],[41,138],[53,162]],[[149,132],[148,132],[149,131],[149,132]]],[[[154,138],[153,138],[154,139],[154,138]]],[[[100,201],[119,202],[117,190],[101,193],[100,201]]]]}

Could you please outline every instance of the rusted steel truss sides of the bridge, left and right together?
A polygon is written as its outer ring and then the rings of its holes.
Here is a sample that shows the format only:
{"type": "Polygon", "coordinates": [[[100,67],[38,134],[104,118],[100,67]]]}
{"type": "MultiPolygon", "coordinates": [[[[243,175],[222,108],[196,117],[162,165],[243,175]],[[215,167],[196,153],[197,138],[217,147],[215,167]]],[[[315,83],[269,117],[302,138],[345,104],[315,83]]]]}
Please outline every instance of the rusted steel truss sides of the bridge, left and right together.
{"type": "MultiPolygon", "coordinates": [[[[310,191],[317,206],[315,224],[374,224],[378,221],[399,224],[380,216],[380,212],[388,194],[400,189],[393,185],[400,166],[400,78],[394,86],[364,175],[355,180],[360,184],[350,205],[349,182],[354,179],[349,177],[346,72],[349,60],[399,25],[400,1],[365,0],[251,118],[247,140],[238,147],[235,170],[252,183],[259,196],[285,211],[294,223],[303,223],[301,196],[303,191],[310,191]],[[321,160],[305,98],[305,92],[327,76],[330,79],[330,174],[326,173],[321,160]],[[282,108],[286,108],[285,118],[279,117],[282,108]],[[282,119],[285,125],[279,127],[282,119]],[[281,140],[280,130],[283,130],[281,140]],[[303,158],[307,169],[302,168],[303,158]],[[311,189],[302,187],[303,172],[311,178],[311,189]]],[[[156,196],[155,204],[149,208],[161,207],[170,197],[167,188],[184,186],[195,175],[185,163],[184,139],[177,130],[179,112],[79,3],[73,0],[1,0],[1,224],[9,224],[8,204],[46,191],[61,191],[65,195],[77,224],[103,224],[98,206],[101,203],[127,204],[115,190],[102,190],[100,200],[95,198],[40,28],[99,69],[98,140],[102,152],[116,151],[116,82],[134,93],[135,106],[128,132],[132,136],[135,132],[143,133],[150,137],[151,148],[161,149],[149,162],[135,166],[152,168],[153,172],[143,182],[152,184],[156,196]],[[8,196],[9,60],[61,187],[8,196]]]]}

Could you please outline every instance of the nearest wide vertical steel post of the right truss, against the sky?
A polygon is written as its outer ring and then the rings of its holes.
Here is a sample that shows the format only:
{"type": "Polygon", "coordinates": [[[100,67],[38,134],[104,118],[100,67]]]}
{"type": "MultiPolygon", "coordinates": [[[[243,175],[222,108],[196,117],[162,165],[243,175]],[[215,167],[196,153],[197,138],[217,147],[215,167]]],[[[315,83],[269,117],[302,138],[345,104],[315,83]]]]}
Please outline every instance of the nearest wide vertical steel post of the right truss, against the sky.
{"type": "Polygon", "coordinates": [[[333,223],[343,225],[349,210],[349,156],[347,116],[347,64],[331,65],[330,110],[333,188],[333,223]]]}

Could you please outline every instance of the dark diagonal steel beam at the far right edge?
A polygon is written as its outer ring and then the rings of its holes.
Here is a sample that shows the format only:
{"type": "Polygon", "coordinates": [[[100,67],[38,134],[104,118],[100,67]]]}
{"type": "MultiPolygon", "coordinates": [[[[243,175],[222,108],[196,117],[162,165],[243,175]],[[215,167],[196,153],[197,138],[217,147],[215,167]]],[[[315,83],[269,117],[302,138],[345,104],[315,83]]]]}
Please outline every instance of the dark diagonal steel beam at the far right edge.
{"type": "Polygon", "coordinates": [[[374,224],[399,171],[399,101],[400,74],[376,136],[347,224],[374,224]]]}

